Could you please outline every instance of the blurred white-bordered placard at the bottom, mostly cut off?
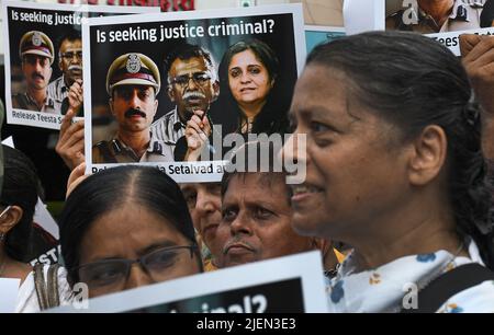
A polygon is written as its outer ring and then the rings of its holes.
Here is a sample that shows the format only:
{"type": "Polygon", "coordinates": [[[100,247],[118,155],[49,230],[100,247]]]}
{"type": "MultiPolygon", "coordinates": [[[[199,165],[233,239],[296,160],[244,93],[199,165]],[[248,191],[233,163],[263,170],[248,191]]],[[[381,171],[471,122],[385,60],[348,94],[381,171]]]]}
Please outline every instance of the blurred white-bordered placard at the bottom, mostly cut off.
{"type": "Polygon", "coordinates": [[[48,312],[315,313],[327,311],[319,252],[194,275],[48,312]]]}

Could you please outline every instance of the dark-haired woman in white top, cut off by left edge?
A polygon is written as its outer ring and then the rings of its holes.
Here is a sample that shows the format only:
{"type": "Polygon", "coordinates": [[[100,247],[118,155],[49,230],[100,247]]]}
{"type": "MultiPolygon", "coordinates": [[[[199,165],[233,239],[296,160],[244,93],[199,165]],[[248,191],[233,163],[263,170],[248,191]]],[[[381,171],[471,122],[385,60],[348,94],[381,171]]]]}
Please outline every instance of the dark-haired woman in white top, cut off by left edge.
{"type": "MultiPolygon", "coordinates": [[[[21,151],[2,146],[4,159],[3,186],[0,197],[0,278],[19,278],[15,312],[37,312],[43,308],[44,294],[52,301],[66,301],[69,294],[64,269],[57,266],[37,265],[30,262],[48,250],[40,231],[33,223],[34,210],[41,184],[36,169],[21,151]],[[47,282],[52,272],[55,291],[46,292],[36,288],[38,282],[47,282]]],[[[49,245],[53,247],[53,245],[49,245]]]]}

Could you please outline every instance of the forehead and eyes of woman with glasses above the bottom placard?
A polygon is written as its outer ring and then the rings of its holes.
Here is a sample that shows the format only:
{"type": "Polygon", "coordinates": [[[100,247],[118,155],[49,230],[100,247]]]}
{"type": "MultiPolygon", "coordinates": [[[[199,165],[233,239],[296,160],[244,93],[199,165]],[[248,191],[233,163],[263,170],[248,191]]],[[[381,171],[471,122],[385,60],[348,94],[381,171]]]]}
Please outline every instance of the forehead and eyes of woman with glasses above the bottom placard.
{"type": "Polygon", "coordinates": [[[97,219],[80,245],[79,280],[97,297],[200,272],[197,254],[168,220],[138,205],[97,219]],[[141,259],[139,263],[128,262],[141,259]]]}

